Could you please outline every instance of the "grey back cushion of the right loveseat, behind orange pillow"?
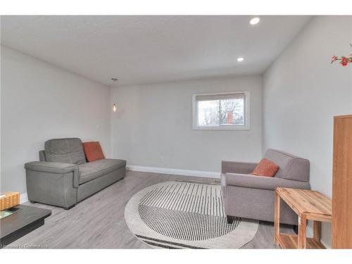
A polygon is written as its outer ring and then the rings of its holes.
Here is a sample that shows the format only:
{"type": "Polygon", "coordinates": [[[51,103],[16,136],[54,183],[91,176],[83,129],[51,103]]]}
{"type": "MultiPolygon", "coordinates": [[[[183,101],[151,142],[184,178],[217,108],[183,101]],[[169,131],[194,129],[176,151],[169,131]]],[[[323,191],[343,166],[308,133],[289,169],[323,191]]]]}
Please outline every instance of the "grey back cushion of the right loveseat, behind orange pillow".
{"type": "Polygon", "coordinates": [[[274,149],[268,149],[264,154],[264,158],[279,165],[279,170],[275,177],[309,182],[310,164],[307,159],[274,149]]]}

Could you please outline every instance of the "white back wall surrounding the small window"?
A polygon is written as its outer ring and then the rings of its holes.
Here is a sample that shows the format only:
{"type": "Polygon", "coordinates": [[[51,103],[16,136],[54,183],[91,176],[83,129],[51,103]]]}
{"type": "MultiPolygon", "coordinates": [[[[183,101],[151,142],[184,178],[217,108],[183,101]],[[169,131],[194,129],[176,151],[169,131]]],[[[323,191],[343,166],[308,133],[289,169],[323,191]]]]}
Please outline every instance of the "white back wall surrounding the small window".
{"type": "Polygon", "coordinates": [[[129,165],[220,172],[221,160],[261,155],[261,77],[226,77],[112,89],[114,158],[129,165]],[[251,92],[251,130],[192,130],[192,94],[251,92]]]}

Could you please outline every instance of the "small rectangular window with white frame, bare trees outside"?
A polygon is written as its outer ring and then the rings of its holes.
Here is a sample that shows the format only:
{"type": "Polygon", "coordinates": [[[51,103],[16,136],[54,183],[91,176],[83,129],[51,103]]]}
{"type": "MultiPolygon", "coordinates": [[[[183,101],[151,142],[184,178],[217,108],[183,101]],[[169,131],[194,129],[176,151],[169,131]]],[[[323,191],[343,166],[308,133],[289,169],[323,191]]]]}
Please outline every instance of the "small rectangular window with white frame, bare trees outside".
{"type": "Polygon", "coordinates": [[[249,92],[193,95],[194,130],[249,130],[249,92]]]}

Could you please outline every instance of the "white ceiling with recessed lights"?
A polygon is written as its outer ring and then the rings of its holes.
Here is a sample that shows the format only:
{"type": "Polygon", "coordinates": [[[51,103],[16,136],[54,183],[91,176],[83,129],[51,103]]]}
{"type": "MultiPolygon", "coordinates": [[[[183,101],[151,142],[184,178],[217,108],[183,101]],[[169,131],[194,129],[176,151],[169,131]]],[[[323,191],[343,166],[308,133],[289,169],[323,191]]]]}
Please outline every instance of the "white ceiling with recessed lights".
{"type": "Polygon", "coordinates": [[[261,74],[309,16],[2,16],[1,43],[109,86],[261,74]],[[237,57],[245,61],[237,63],[237,57]],[[113,83],[111,77],[117,77],[113,83]]]}

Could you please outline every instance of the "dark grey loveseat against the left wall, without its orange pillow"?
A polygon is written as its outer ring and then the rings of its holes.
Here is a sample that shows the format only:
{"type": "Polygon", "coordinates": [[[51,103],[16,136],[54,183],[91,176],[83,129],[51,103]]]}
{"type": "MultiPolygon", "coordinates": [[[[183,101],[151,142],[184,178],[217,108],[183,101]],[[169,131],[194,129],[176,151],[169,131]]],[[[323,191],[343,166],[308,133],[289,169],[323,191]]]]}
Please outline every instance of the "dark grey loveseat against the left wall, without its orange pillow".
{"type": "Polygon", "coordinates": [[[39,151],[39,161],[25,163],[25,170],[28,200],[67,210],[125,177],[126,161],[87,163],[80,139],[50,139],[39,151]]]}

